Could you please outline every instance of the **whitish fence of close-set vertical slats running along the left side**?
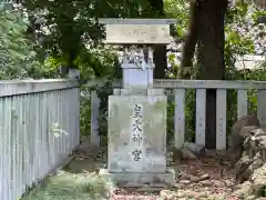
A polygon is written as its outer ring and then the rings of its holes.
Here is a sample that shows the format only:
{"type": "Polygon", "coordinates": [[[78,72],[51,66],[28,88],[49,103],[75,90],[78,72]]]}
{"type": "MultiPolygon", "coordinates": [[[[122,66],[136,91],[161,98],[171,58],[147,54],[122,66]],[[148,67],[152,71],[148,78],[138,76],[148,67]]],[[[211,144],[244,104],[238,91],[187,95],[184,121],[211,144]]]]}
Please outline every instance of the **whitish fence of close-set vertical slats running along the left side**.
{"type": "Polygon", "coordinates": [[[79,144],[74,80],[0,81],[0,199],[16,200],[79,144]]]}

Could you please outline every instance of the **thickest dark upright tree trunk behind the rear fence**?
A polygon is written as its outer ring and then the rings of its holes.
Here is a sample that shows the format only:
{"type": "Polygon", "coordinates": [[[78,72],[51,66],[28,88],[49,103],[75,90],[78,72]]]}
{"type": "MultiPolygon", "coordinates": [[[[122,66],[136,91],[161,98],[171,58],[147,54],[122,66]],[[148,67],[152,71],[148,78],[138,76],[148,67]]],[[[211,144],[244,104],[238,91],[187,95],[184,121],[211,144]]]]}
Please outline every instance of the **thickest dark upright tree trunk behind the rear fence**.
{"type": "MultiPolygon", "coordinates": [[[[205,0],[201,3],[197,29],[197,61],[201,80],[223,80],[224,18],[227,0],[205,0]]],[[[206,92],[206,148],[216,148],[216,90],[206,92]]]]}

